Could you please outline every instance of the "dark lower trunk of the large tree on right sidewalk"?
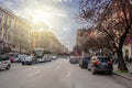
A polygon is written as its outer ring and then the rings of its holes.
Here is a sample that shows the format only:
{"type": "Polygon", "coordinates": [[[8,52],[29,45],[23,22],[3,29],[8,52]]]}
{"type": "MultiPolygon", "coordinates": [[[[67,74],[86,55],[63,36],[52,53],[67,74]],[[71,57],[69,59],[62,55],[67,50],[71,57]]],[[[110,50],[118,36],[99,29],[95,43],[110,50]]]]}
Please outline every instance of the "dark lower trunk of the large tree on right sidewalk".
{"type": "Polygon", "coordinates": [[[123,52],[122,52],[122,50],[118,50],[117,54],[118,54],[118,62],[119,62],[118,69],[128,72],[128,67],[127,67],[127,65],[124,63],[124,59],[123,59],[123,52]]]}

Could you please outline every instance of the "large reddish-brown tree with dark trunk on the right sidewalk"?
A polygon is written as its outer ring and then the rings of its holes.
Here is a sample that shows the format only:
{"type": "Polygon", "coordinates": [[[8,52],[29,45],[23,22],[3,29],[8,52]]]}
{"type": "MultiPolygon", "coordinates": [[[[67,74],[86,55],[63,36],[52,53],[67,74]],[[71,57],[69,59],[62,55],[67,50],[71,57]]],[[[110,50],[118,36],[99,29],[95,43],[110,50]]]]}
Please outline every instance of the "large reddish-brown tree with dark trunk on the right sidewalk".
{"type": "Polygon", "coordinates": [[[121,70],[128,70],[122,47],[132,30],[132,4],[130,0],[80,0],[80,18],[92,23],[110,40],[110,48],[118,55],[121,70]]]}

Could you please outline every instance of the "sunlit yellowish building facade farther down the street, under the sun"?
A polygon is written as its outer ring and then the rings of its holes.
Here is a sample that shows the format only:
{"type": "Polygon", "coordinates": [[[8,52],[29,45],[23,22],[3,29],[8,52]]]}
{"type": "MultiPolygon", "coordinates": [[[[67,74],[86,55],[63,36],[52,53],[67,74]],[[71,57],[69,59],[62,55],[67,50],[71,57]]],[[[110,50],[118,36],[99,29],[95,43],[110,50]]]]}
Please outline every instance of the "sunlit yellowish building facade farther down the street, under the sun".
{"type": "Polygon", "coordinates": [[[57,40],[51,31],[32,31],[32,50],[43,47],[53,54],[68,52],[68,50],[57,40]]]}

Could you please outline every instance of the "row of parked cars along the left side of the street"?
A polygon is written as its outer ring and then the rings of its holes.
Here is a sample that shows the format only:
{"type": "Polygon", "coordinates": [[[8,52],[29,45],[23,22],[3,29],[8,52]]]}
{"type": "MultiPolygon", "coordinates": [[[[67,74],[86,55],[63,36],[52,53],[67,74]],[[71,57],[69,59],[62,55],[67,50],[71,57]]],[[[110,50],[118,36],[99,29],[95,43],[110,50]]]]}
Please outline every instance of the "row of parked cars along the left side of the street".
{"type": "Polygon", "coordinates": [[[57,56],[44,55],[42,58],[36,58],[33,55],[8,53],[0,55],[0,69],[10,69],[11,63],[21,63],[22,65],[32,65],[42,62],[51,62],[57,59],[57,56]]]}

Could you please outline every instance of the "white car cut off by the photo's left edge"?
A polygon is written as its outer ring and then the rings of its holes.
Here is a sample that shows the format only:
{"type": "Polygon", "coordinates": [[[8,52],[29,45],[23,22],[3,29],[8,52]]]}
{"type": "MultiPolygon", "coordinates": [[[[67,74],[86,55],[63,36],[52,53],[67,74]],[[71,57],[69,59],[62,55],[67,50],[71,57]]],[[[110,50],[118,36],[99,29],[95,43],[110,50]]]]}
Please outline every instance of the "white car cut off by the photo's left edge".
{"type": "Polygon", "coordinates": [[[10,69],[11,62],[7,55],[0,55],[0,69],[10,69]]]}

